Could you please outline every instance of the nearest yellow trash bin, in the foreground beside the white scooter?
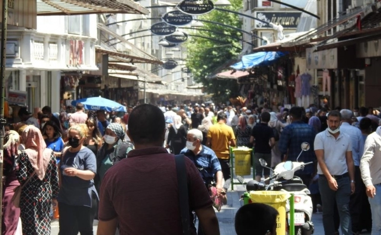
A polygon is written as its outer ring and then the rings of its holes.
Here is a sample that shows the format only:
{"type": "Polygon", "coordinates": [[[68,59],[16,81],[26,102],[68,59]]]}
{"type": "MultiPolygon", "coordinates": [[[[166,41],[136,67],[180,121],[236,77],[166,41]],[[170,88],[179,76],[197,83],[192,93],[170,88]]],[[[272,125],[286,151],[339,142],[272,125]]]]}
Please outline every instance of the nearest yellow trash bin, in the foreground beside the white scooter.
{"type": "Polygon", "coordinates": [[[290,194],[281,191],[251,191],[252,202],[264,203],[274,207],[279,215],[276,218],[276,234],[286,234],[286,202],[290,194]]]}

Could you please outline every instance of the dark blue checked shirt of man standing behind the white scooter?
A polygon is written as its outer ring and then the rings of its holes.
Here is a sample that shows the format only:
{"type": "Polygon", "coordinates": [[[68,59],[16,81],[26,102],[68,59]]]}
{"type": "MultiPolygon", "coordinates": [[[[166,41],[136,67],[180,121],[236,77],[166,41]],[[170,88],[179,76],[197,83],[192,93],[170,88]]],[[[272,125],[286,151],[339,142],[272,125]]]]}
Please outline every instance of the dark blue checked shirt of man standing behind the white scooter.
{"type": "MultiPolygon", "coordinates": [[[[303,121],[294,121],[283,129],[280,135],[278,146],[282,155],[288,154],[287,160],[296,162],[297,156],[301,151],[302,142],[310,144],[308,151],[303,151],[300,155],[299,162],[316,162],[314,151],[314,141],[316,132],[314,128],[303,121]]],[[[314,164],[306,165],[303,170],[298,170],[298,174],[314,173],[314,164]]]]}

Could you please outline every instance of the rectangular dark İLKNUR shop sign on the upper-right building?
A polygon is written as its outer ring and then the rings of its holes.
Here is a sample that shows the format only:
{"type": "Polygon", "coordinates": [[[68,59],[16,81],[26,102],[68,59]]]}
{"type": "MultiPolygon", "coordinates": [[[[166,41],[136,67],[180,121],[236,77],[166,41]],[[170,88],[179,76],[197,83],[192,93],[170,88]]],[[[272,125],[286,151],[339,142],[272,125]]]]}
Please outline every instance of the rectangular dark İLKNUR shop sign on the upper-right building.
{"type": "MultiPolygon", "coordinates": [[[[301,12],[291,11],[256,11],[254,16],[267,23],[280,24],[283,28],[297,28],[301,12]]],[[[255,28],[273,28],[270,24],[254,20],[255,28]]]]}

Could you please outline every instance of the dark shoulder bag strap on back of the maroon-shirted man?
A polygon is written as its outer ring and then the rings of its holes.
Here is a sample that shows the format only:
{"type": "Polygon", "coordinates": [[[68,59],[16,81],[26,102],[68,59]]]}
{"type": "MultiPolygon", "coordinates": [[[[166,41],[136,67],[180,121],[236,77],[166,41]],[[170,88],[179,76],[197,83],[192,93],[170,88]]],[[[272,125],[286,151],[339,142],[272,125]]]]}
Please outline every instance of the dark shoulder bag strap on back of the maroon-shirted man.
{"type": "Polygon", "coordinates": [[[183,234],[190,235],[190,218],[189,218],[189,199],[188,199],[188,180],[187,167],[185,166],[184,154],[175,156],[177,184],[179,189],[179,205],[181,222],[183,224],[183,234]]]}

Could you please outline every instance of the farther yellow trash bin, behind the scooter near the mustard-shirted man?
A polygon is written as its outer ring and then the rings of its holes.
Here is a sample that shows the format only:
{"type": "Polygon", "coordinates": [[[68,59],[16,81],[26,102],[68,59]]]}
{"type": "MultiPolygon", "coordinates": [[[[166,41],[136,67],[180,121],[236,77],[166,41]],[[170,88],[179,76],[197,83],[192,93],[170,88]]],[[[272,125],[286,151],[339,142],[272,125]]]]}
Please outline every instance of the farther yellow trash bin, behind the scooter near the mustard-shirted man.
{"type": "Polygon", "coordinates": [[[238,147],[233,149],[235,175],[251,175],[252,149],[248,147],[238,147]]]}

